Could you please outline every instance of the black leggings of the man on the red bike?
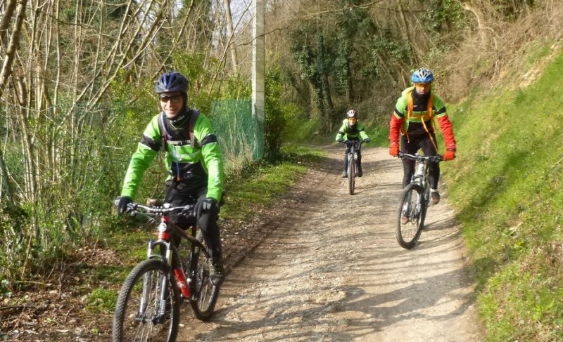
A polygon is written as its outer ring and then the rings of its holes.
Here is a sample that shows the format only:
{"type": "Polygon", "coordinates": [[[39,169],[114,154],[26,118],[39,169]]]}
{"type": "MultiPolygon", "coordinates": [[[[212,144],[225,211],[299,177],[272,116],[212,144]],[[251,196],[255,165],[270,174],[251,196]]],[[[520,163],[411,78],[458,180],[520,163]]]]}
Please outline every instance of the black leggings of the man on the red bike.
{"type": "MultiPolygon", "coordinates": [[[[195,204],[198,199],[207,197],[207,187],[196,188],[189,186],[186,183],[176,183],[174,185],[170,180],[166,182],[167,202],[172,206],[184,206],[188,204],[195,204]]],[[[203,232],[203,239],[208,246],[208,252],[211,256],[221,255],[221,237],[219,233],[219,219],[220,209],[214,206],[210,211],[205,211],[198,218],[198,226],[203,232]]],[[[195,218],[193,216],[174,215],[171,216],[171,221],[181,228],[188,228],[194,224],[195,218]]],[[[176,241],[175,241],[176,242],[176,241]]]]}

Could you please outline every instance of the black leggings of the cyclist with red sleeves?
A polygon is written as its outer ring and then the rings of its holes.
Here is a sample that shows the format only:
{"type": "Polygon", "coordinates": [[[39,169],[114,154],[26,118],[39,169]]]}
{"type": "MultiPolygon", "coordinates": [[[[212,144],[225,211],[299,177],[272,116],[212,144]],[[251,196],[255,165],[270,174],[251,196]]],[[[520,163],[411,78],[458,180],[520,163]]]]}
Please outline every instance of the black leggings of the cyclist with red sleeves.
{"type": "MultiPolygon", "coordinates": [[[[436,133],[430,133],[432,139],[436,141],[436,133]]],[[[429,133],[410,134],[401,136],[400,138],[400,152],[415,154],[419,149],[422,149],[426,157],[434,156],[437,154],[436,147],[430,140],[429,133]]],[[[403,158],[403,188],[409,185],[412,175],[415,174],[415,161],[412,159],[403,158]]],[[[438,189],[438,180],[440,180],[440,166],[436,162],[428,163],[428,180],[431,189],[438,189]]]]}

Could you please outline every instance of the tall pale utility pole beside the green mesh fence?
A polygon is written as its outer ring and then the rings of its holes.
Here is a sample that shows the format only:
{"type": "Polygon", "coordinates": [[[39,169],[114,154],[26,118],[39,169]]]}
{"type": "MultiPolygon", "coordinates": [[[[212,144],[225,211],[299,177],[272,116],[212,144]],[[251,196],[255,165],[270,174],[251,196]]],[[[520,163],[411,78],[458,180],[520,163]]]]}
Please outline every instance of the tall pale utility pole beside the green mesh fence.
{"type": "Polygon", "coordinates": [[[254,159],[264,156],[265,141],[265,94],[264,94],[264,1],[253,0],[254,18],[252,20],[252,117],[257,124],[254,159]]]}

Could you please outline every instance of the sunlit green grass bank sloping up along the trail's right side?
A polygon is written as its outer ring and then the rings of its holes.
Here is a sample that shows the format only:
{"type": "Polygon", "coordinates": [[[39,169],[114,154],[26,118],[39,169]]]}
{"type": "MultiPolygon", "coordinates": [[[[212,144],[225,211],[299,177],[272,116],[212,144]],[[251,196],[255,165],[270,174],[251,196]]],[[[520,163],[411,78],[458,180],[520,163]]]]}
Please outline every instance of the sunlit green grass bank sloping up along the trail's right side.
{"type": "MultiPolygon", "coordinates": [[[[528,60],[539,60],[545,49],[528,60]]],[[[444,163],[488,341],[563,341],[563,55],[526,88],[453,107],[444,163]]]]}

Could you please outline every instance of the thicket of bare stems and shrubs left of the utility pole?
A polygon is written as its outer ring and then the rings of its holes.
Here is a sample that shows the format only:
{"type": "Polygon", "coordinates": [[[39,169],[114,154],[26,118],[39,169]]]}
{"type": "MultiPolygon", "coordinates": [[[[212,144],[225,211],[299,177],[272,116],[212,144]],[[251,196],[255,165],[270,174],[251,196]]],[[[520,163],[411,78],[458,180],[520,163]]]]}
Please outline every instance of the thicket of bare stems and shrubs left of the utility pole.
{"type": "MultiPolygon", "coordinates": [[[[210,0],[0,7],[0,235],[10,256],[0,256],[0,280],[17,280],[107,229],[111,198],[158,110],[156,76],[184,72],[190,104],[209,110],[232,76],[224,51],[236,46],[223,37],[224,8],[210,0]]],[[[164,176],[146,177],[141,195],[158,191],[164,176]]]]}

